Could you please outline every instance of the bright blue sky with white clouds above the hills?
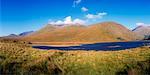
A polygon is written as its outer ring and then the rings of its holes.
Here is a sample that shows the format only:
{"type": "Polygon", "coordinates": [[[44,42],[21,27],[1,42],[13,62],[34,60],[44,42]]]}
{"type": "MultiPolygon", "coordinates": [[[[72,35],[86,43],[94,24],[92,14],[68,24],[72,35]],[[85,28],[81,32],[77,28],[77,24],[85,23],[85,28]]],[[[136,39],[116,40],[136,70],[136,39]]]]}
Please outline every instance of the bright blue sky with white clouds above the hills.
{"type": "Polygon", "coordinates": [[[129,29],[150,25],[150,0],[0,0],[0,36],[46,24],[114,21],[129,29]]]}

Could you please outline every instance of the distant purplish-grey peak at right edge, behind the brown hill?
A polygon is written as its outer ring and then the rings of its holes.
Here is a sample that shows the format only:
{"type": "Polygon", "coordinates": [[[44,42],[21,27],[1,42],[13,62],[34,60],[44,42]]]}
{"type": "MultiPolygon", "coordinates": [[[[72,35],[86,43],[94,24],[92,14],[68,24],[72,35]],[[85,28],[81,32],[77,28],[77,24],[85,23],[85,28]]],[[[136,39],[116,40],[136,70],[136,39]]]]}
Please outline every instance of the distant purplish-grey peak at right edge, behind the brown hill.
{"type": "Polygon", "coordinates": [[[150,35],[150,26],[138,26],[132,31],[144,38],[146,35],[150,35]]]}

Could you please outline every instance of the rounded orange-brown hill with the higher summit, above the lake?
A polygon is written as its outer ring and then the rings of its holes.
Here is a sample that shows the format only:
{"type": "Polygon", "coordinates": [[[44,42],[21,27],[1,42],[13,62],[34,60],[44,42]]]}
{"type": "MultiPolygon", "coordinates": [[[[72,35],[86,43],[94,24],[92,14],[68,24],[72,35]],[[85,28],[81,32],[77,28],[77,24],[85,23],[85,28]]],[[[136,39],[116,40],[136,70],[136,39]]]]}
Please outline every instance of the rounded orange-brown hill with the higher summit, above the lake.
{"type": "Polygon", "coordinates": [[[114,22],[103,22],[89,26],[86,31],[79,34],[78,37],[84,38],[82,39],[84,41],[105,42],[135,40],[136,37],[134,36],[136,36],[134,33],[120,24],[114,22]]]}

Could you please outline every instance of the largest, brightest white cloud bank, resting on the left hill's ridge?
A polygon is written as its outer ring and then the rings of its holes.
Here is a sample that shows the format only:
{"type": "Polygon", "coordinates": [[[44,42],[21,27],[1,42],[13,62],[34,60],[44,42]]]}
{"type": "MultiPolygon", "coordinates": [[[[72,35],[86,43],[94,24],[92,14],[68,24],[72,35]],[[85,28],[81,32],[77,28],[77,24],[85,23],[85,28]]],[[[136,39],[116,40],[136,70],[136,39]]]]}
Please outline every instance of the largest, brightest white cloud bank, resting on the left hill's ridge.
{"type": "Polygon", "coordinates": [[[49,22],[49,24],[54,24],[54,25],[68,25],[68,24],[80,24],[80,25],[84,25],[86,22],[84,20],[81,19],[74,19],[72,20],[71,16],[66,17],[63,21],[58,20],[58,21],[51,21],[49,22]]]}

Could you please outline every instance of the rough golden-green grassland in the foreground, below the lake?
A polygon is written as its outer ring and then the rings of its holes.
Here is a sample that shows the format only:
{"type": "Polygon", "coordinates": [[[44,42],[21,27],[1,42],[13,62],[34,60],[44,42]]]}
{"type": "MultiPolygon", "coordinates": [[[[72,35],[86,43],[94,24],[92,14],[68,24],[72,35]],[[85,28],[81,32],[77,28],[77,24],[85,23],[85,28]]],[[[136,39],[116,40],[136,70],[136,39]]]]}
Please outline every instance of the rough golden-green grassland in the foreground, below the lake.
{"type": "Polygon", "coordinates": [[[0,74],[149,75],[150,48],[122,51],[44,51],[26,42],[0,42],[0,74]]]}

